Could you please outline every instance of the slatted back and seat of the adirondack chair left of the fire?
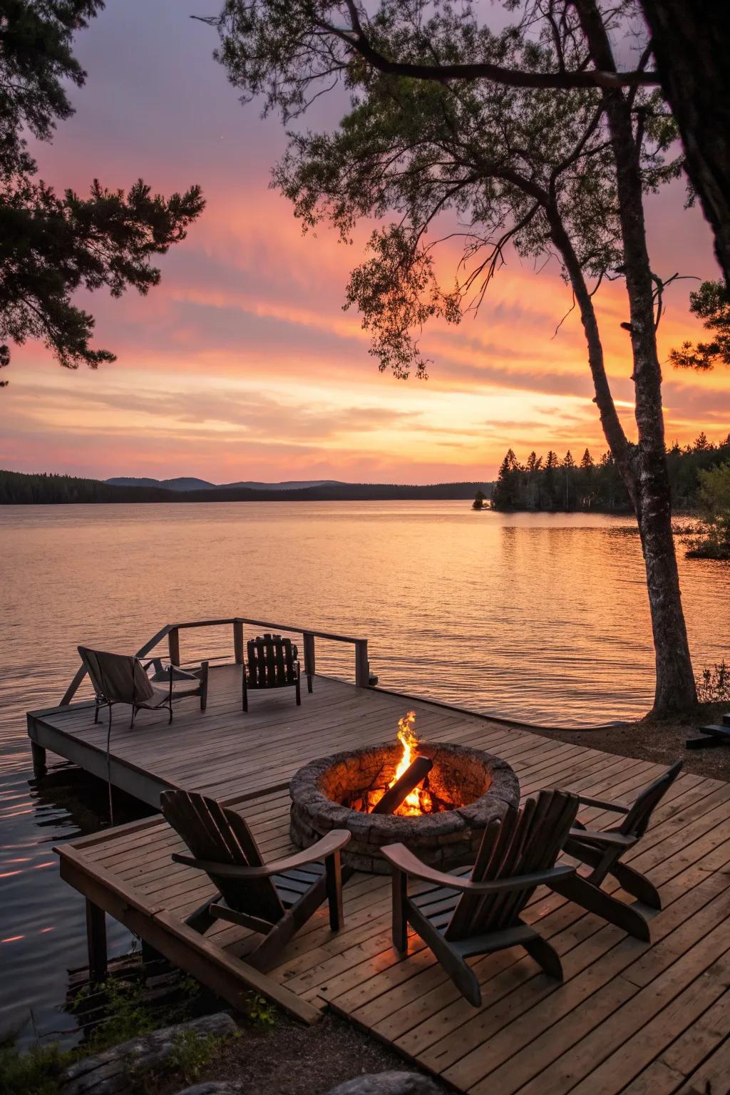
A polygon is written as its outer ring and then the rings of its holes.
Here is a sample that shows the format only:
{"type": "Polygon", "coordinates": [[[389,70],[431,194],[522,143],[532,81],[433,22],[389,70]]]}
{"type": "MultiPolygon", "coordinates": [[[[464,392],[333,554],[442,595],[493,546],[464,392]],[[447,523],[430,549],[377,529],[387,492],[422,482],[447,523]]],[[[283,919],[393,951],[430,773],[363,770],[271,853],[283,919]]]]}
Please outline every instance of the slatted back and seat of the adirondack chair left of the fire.
{"type": "MultiPolygon", "coordinates": [[[[264,865],[252,832],[233,810],[197,792],[165,791],[160,796],[165,820],[183,838],[196,860],[227,866],[264,865]]],[[[283,915],[283,906],[270,878],[241,881],[209,872],[210,880],[229,908],[269,924],[283,915]]]]}

